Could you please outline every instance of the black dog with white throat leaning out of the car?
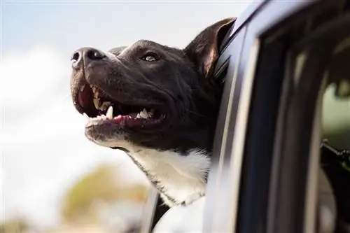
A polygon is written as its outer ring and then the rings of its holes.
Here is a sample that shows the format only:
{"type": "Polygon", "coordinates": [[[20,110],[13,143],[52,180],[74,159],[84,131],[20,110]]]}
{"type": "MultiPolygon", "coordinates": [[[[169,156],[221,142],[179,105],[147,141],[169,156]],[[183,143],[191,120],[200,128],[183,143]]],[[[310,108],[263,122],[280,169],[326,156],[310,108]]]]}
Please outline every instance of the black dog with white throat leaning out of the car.
{"type": "Polygon", "coordinates": [[[218,48],[235,18],[211,24],[186,48],[141,40],[71,57],[71,97],[85,136],[124,150],[168,206],[204,196],[223,85],[218,48]]]}

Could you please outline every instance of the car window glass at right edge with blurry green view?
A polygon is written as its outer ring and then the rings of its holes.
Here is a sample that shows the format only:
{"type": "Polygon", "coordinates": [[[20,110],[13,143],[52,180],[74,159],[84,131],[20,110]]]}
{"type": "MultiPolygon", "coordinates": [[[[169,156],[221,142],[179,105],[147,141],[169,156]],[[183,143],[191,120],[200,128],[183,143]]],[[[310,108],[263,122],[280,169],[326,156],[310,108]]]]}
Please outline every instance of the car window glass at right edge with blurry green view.
{"type": "MultiPolygon", "coordinates": [[[[321,169],[319,184],[320,229],[350,232],[350,38],[333,50],[323,94],[321,169]],[[330,187],[324,187],[325,179],[330,187]],[[331,203],[331,202],[334,202],[331,203]],[[327,208],[328,206],[328,208],[327,208]]],[[[320,230],[321,231],[321,230],[320,230]]]]}

